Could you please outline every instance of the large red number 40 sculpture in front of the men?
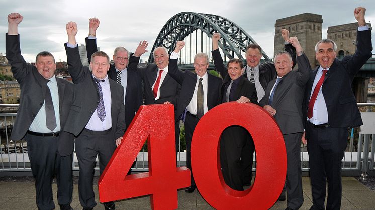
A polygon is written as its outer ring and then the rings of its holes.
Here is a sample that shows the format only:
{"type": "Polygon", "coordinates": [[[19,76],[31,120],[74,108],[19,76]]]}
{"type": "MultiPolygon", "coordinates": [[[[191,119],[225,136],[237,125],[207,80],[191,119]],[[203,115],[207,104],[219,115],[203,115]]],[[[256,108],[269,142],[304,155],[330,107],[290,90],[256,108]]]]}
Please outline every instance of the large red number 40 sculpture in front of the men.
{"type": "MultiPolygon", "coordinates": [[[[190,185],[190,171],[176,168],[173,105],[141,106],[101,178],[101,202],[151,196],[152,209],[176,209],[177,189],[190,185]],[[126,175],[147,140],[149,172],[126,175]]],[[[283,136],[261,107],[221,104],[199,121],[191,148],[193,175],[202,197],[216,209],[268,209],[277,200],[286,177],[283,136]],[[256,148],[256,181],[245,191],[228,187],[220,170],[218,145],[223,130],[246,128],[256,148]]]]}

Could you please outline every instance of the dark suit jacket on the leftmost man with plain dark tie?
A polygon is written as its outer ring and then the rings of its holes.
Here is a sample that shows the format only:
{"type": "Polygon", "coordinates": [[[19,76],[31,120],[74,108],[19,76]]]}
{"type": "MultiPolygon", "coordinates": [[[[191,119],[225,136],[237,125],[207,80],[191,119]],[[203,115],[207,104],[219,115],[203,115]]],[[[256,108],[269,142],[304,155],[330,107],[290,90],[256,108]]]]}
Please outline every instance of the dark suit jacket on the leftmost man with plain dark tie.
{"type": "MultiPolygon", "coordinates": [[[[27,64],[21,55],[20,35],[6,35],[6,53],[12,65],[13,76],[20,84],[21,98],[11,138],[21,140],[44,103],[47,82],[34,65],[27,64]]],[[[59,113],[61,131],[66,124],[70,106],[73,103],[73,84],[56,78],[59,94],[59,113]]],[[[57,148],[61,156],[73,152],[73,135],[60,132],[57,148]]]]}

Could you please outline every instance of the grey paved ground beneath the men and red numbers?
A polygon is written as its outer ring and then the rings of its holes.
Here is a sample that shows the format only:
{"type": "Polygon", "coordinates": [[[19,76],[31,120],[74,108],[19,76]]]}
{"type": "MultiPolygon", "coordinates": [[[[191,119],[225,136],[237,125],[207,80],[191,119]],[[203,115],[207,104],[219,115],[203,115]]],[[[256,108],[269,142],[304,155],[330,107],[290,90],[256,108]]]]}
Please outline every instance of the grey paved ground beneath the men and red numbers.
{"type": "MultiPolygon", "coordinates": [[[[76,178],[75,178],[76,182],[76,178]]],[[[365,185],[354,177],[343,177],[342,204],[341,209],[375,209],[375,179],[371,178],[365,185]],[[369,188],[370,187],[370,188],[369,188]]],[[[82,209],[79,200],[77,185],[74,184],[73,202],[74,209],[82,209]]],[[[53,190],[57,194],[57,186],[53,184],[53,190]]],[[[98,187],[95,186],[96,195],[98,187]]],[[[303,177],[304,204],[301,209],[309,209],[312,205],[311,188],[309,177],[303,177]]],[[[98,196],[96,197],[97,202],[98,196]]],[[[57,204],[57,203],[56,203],[57,204]]],[[[276,202],[271,209],[285,209],[287,201],[276,202]]],[[[33,179],[30,177],[0,177],[0,209],[37,209],[35,204],[35,188],[33,179]]],[[[59,208],[57,208],[59,209],[59,208]]],[[[95,209],[104,209],[99,204],[95,209]]],[[[116,202],[116,209],[150,209],[149,196],[127,199],[116,202]]],[[[188,194],[184,190],[178,191],[178,209],[213,209],[197,192],[188,194]]],[[[253,206],[249,209],[257,209],[253,206]]]]}

